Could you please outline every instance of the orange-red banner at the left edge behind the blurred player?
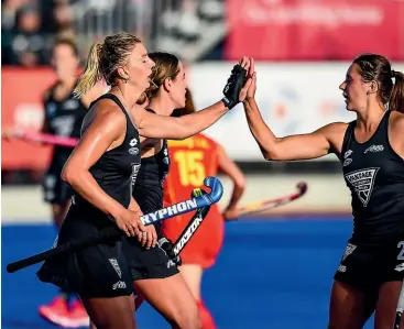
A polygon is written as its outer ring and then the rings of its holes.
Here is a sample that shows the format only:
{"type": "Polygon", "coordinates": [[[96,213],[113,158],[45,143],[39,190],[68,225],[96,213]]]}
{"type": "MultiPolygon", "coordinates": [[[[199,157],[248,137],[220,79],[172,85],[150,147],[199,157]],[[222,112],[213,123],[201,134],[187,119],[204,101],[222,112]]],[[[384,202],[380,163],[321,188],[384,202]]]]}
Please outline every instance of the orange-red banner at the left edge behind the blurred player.
{"type": "MultiPolygon", "coordinates": [[[[3,67],[1,72],[1,129],[18,127],[39,130],[44,111],[42,95],[55,80],[51,69],[3,67]]],[[[1,140],[2,169],[44,169],[50,161],[47,146],[1,140]]]]}

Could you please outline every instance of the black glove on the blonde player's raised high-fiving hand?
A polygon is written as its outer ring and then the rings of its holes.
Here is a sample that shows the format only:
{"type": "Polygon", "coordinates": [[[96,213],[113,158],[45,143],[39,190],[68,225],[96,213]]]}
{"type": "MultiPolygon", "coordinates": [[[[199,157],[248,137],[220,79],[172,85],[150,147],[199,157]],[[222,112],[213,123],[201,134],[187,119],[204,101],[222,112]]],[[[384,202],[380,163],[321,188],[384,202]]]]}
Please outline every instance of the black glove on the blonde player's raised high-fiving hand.
{"type": "Polygon", "coordinates": [[[225,97],[222,98],[222,102],[227,108],[229,108],[229,110],[240,102],[239,95],[242,87],[244,87],[247,69],[242,68],[240,64],[234,65],[233,69],[231,70],[231,75],[225,86],[225,97]]]}

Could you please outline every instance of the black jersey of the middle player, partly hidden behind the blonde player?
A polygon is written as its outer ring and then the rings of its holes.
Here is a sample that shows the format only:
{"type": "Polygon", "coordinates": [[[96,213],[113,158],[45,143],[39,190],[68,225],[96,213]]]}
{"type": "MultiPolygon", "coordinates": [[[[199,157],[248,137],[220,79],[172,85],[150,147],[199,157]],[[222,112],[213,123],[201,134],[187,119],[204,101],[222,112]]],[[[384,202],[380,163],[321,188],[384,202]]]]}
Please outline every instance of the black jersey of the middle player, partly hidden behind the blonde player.
{"type": "MultiPolygon", "coordinates": [[[[154,112],[152,110],[149,110],[154,112]]],[[[163,140],[163,147],[153,156],[142,158],[133,198],[144,213],[163,207],[163,183],[170,171],[167,141],[163,140]]]]}

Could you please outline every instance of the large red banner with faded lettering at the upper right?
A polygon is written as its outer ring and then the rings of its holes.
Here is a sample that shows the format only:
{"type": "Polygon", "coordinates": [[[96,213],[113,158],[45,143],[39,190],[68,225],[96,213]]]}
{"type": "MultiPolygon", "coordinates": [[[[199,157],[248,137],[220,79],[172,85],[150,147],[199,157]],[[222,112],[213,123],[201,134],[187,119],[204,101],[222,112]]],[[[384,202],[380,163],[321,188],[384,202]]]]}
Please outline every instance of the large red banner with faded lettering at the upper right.
{"type": "Polygon", "coordinates": [[[226,57],[404,61],[404,1],[228,0],[226,57]]]}

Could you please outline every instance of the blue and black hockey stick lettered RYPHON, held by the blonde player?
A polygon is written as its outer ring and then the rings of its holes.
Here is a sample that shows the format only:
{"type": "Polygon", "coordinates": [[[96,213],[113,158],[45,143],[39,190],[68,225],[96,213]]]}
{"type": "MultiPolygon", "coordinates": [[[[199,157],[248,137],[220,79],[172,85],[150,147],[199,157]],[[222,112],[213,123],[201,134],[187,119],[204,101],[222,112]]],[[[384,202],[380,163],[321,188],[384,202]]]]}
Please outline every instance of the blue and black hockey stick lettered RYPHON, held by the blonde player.
{"type": "MultiPolygon", "coordinates": [[[[141,221],[144,226],[152,224],[154,222],[159,222],[177,215],[186,213],[199,208],[208,207],[212,204],[216,204],[220,200],[223,194],[223,187],[220,180],[216,177],[206,177],[204,179],[204,185],[210,188],[210,193],[206,195],[201,195],[195,198],[190,198],[188,200],[184,200],[178,204],[174,204],[172,206],[160,209],[159,211],[143,215],[140,217],[141,221]]],[[[32,255],[30,257],[10,263],[7,265],[7,272],[13,273],[21,268],[41,263],[54,256],[61,255],[66,252],[77,251],[83,248],[94,245],[100,242],[103,242],[109,239],[117,239],[122,234],[122,231],[118,229],[118,227],[111,227],[106,230],[102,230],[99,234],[88,237],[86,239],[73,240],[70,242],[57,245],[53,249],[44,251],[42,253],[32,255]]]]}

